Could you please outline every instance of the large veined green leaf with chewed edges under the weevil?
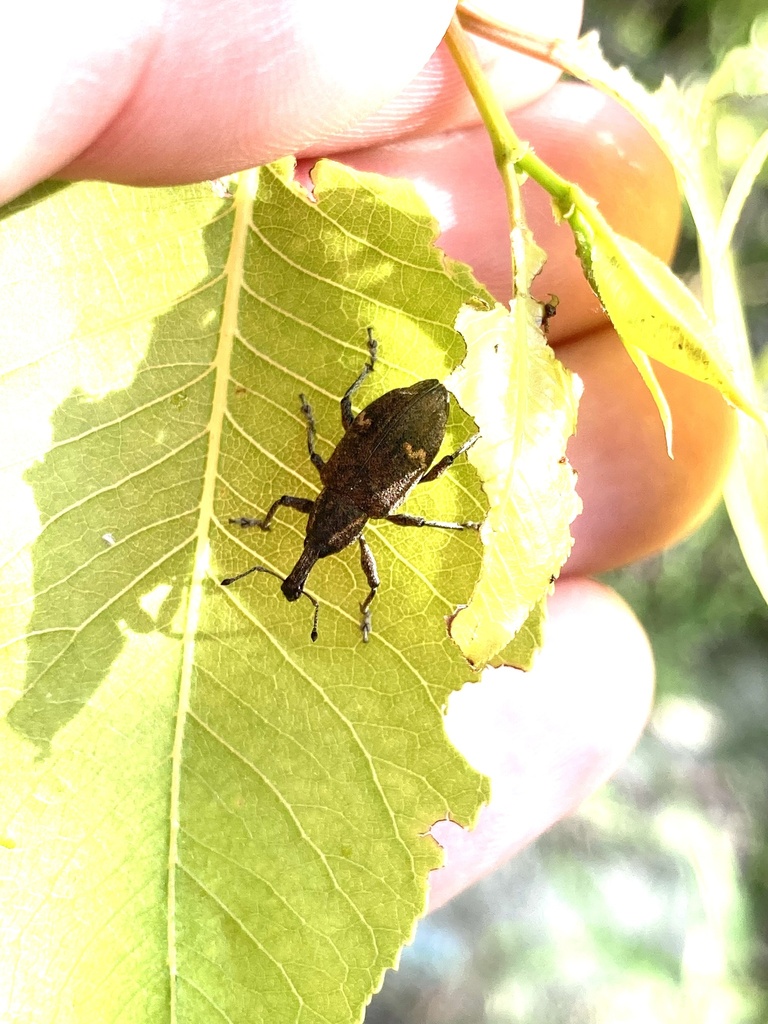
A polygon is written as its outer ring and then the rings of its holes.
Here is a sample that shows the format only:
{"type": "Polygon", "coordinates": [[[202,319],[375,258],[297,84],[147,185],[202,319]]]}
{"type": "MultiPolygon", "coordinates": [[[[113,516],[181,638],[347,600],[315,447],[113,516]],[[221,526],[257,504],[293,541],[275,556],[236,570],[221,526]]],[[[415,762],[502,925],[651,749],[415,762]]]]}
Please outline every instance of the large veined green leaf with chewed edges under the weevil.
{"type": "MultiPolygon", "coordinates": [[[[368,645],[355,549],[310,578],[314,645],[269,577],[218,583],[299,554],[296,512],[227,523],[316,493],[298,392],[327,454],[366,327],[360,403],[450,372],[474,286],[409,185],[232,187],[44,186],[0,221],[4,1020],[357,1021],[431,824],[487,799],[441,719],[474,534],[368,530],[368,645]]],[[[446,447],[473,429],[455,406],[446,447]]],[[[481,518],[460,463],[408,507],[481,518]]]]}

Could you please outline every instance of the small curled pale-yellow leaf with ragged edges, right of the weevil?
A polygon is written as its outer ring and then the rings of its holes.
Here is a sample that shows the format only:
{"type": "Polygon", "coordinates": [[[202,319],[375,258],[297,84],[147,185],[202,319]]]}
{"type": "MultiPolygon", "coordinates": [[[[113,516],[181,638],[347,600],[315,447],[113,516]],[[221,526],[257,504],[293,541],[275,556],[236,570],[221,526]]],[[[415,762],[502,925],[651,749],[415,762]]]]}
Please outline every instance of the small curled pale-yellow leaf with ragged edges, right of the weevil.
{"type": "MultiPolygon", "coordinates": [[[[490,510],[480,530],[480,578],[451,635],[470,664],[482,667],[526,624],[570,553],[568,527],[581,501],[565,446],[582,383],[555,357],[541,307],[527,297],[516,298],[511,311],[465,307],[457,328],[467,357],[447,386],[480,428],[469,458],[490,510]]],[[[514,656],[527,665],[531,654],[518,648],[514,656]]]]}

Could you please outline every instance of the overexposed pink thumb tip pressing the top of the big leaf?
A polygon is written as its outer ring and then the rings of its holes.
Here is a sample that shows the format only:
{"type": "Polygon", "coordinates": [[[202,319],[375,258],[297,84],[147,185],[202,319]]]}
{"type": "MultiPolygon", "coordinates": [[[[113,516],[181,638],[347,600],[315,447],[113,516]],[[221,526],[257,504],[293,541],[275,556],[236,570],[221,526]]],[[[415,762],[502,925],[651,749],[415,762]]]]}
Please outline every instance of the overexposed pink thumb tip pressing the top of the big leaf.
{"type": "Polygon", "coordinates": [[[180,183],[324,148],[419,74],[454,6],[172,0],[140,77],[66,173],[180,183]]]}

